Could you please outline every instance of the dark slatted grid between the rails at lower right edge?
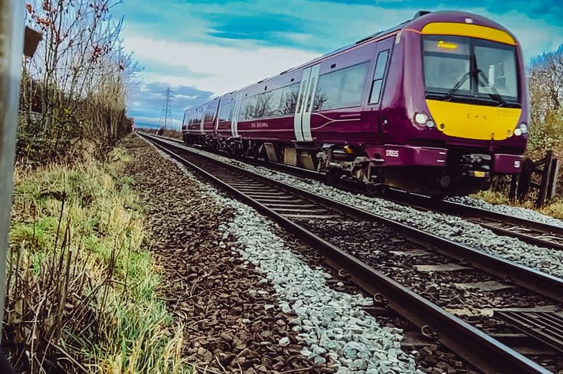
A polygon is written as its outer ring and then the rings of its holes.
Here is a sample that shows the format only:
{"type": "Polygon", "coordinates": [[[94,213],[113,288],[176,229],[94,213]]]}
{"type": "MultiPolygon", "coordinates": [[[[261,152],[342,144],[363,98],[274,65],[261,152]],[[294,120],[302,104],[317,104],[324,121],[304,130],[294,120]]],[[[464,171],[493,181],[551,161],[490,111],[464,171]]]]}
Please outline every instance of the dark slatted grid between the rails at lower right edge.
{"type": "Polygon", "coordinates": [[[496,310],[494,315],[524,334],[563,352],[563,317],[560,314],[496,310]]]}

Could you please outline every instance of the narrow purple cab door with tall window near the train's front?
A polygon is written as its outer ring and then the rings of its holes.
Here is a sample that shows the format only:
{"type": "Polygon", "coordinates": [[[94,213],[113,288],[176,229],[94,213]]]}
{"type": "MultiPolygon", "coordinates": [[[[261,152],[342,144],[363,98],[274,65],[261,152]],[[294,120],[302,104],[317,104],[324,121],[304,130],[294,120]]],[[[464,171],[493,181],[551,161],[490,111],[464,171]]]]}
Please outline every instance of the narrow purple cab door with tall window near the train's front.
{"type": "Polygon", "coordinates": [[[387,71],[389,70],[389,60],[393,49],[394,37],[377,42],[375,47],[375,69],[370,83],[368,93],[368,104],[375,112],[373,117],[373,130],[377,130],[380,140],[385,142],[386,133],[389,131],[389,120],[386,112],[382,111],[382,97],[385,89],[387,71]]]}

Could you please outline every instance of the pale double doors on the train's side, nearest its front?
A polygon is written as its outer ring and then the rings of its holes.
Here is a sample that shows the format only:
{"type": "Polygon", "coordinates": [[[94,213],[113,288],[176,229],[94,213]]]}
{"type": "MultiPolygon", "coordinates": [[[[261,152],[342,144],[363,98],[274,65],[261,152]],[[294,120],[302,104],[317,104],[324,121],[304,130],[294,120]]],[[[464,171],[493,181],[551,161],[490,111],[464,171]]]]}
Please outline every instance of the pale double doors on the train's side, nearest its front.
{"type": "Polygon", "coordinates": [[[293,130],[297,142],[311,142],[311,111],[317,87],[318,72],[320,64],[303,70],[295,115],[293,117],[293,130]]]}

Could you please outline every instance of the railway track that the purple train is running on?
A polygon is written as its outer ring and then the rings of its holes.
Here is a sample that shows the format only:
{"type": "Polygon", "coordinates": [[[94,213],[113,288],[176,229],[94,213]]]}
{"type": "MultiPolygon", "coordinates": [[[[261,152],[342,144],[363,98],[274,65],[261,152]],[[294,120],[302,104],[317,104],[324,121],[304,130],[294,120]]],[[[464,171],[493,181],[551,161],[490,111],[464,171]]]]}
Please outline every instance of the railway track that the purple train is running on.
{"type": "MultiPolygon", "coordinates": [[[[170,142],[183,144],[178,139],[165,138],[170,142]]],[[[220,153],[218,153],[220,154],[220,153]]],[[[254,166],[264,167],[266,164],[253,158],[243,158],[243,162],[254,166]]],[[[277,171],[283,171],[294,176],[302,178],[310,178],[318,181],[325,181],[325,176],[316,171],[291,167],[286,164],[268,163],[267,167],[277,171]]],[[[366,194],[366,188],[363,184],[352,180],[338,180],[334,187],[344,189],[354,194],[366,194]]],[[[389,189],[382,198],[399,203],[409,205],[418,210],[439,212],[462,217],[466,221],[476,223],[483,228],[487,228],[497,235],[505,237],[514,237],[525,243],[540,246],[544,248],[553,248],[555,250],[563,250],[563,228],[548,225],[509,214],[501,214],[491,210],[480,209],[452,201],[439,201],[418,194],[410,194],[397,189],[389,189]]]]}

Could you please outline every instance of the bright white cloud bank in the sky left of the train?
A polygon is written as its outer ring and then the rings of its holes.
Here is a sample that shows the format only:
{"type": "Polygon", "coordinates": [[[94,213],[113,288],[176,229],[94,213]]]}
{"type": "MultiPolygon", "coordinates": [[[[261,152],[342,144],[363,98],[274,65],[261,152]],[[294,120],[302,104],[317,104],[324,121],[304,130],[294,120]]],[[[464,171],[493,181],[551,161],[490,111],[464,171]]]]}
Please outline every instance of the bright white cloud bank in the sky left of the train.
{"type": "Polygon", "coordinates": [[[124,40],[127,48],[135,52],[141,65],[143,62],[181,65],[195,74],[209,74],[197,78],[174,76],[161,71],[144,71],[142,76],[145,83],[166,82],[171,85],[195,86],[199,90],[217,94],[237,90],[319,56],[316,52],[284,47],[234,48],[156,40],[138,35],[126,35],[124,40]]]}

